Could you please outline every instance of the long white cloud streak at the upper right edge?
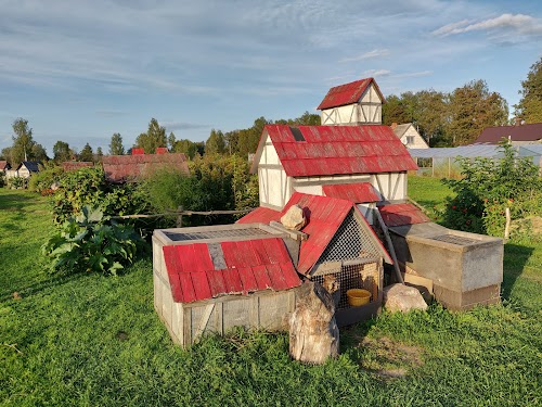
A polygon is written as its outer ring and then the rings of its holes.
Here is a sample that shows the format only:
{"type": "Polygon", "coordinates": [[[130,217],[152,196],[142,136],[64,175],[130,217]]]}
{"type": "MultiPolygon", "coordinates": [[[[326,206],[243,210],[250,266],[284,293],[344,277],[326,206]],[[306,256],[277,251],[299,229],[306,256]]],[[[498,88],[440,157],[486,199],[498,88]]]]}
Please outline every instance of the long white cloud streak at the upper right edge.
{"type": "Polygon", "coordinates": [[[444,25],[434,30],[433,34],[437,36],[451,36],[468,31],[493,31],[499,29],[512,29],[520,35],[542,35],[542,22],[530,15],[506,13],[478,23],[470,20],[463,20],[457,23],[444,25]]]}

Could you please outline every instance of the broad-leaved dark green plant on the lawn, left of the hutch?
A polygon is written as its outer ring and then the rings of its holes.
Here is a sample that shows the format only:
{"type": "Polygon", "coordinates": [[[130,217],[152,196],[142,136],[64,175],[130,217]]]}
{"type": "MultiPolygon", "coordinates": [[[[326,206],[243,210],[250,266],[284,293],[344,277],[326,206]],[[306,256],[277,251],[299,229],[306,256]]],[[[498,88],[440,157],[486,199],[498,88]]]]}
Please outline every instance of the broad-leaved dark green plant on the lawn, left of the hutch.
{"type": "Polygon", "coordinates": [[[100,271],[117,275],[133,263],[143,239],[128,225],[119,225],[102,211],[85,206],[81,214],[66,220],[60,232],[42,246],[52,271],[67,274],[100,271]]]}

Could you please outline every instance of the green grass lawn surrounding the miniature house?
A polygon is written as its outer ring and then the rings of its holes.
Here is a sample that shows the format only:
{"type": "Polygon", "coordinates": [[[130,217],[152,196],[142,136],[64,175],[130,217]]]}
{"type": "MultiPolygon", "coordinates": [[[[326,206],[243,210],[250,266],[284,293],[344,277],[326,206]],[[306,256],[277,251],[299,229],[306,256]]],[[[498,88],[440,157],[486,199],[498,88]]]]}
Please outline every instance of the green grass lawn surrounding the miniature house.
{"type": "MultiPolygon", "coordinates": [[[[410,179],[411,195],[448,193],[410,179]]],[[[233,332],[189,351],[153,310],[152,264],[52,278],[44,199],[0,189],[2,406],[535,406],[542,403],[542,244],[505,247],[503,305],[383,314],[341,330],[324,366],[288,357],[286,333],[233,332]]]]}

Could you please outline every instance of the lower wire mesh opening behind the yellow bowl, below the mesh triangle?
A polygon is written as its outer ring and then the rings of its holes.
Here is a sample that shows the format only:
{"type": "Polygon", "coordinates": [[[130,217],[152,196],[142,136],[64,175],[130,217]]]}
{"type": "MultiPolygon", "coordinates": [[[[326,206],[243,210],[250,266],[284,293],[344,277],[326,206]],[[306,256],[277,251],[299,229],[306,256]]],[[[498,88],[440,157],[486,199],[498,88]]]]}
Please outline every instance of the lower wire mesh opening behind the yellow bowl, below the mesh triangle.
{"type": "MultiPolygon", "coordinates": [[[[333,275],[338,282],[340,296],[337,309],[350,307],[346,292],[350,289],[365,289],[371,293],[371,302],[378,297],[379,267],[377,263],[344,265],[340,269],[332,270],[326,276],[333,275]]],[[[312,281],[324,284],[326,276],[313,276],[312,281]]],[[[325,287],[325,285],[324,285],[325,287]]]]}

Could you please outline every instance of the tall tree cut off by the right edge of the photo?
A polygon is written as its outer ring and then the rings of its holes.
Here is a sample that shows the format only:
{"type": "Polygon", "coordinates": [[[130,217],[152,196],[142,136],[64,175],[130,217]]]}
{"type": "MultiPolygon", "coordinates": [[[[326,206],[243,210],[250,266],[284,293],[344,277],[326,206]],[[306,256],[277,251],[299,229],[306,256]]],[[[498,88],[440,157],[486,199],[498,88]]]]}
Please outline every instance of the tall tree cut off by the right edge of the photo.
{"type": "Polygon", "coordinates": [[[514,114],[526,123],[542,122],[542,58],[531,66],[527,79],[521,81],[521,100],[514,105],[514,114]]]}

